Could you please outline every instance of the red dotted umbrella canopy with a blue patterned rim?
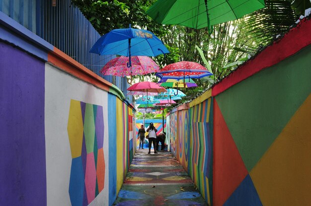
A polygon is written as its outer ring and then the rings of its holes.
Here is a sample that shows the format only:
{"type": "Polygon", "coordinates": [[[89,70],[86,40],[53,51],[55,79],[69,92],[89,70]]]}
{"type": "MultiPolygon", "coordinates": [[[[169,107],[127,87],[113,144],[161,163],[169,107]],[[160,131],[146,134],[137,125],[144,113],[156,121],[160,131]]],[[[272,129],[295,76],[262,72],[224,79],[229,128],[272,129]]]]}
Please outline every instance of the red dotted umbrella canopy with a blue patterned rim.
{"type": "Polygon", "coordinates": [[[207,68],[199,63],[191,61],[179,61],[176,63],[168,64],[156,73],[156,76],[161,79],[176,79],[181,80],[185,77],[189,78],[202,78],[205,76],[213,75],[207,68]]]}

